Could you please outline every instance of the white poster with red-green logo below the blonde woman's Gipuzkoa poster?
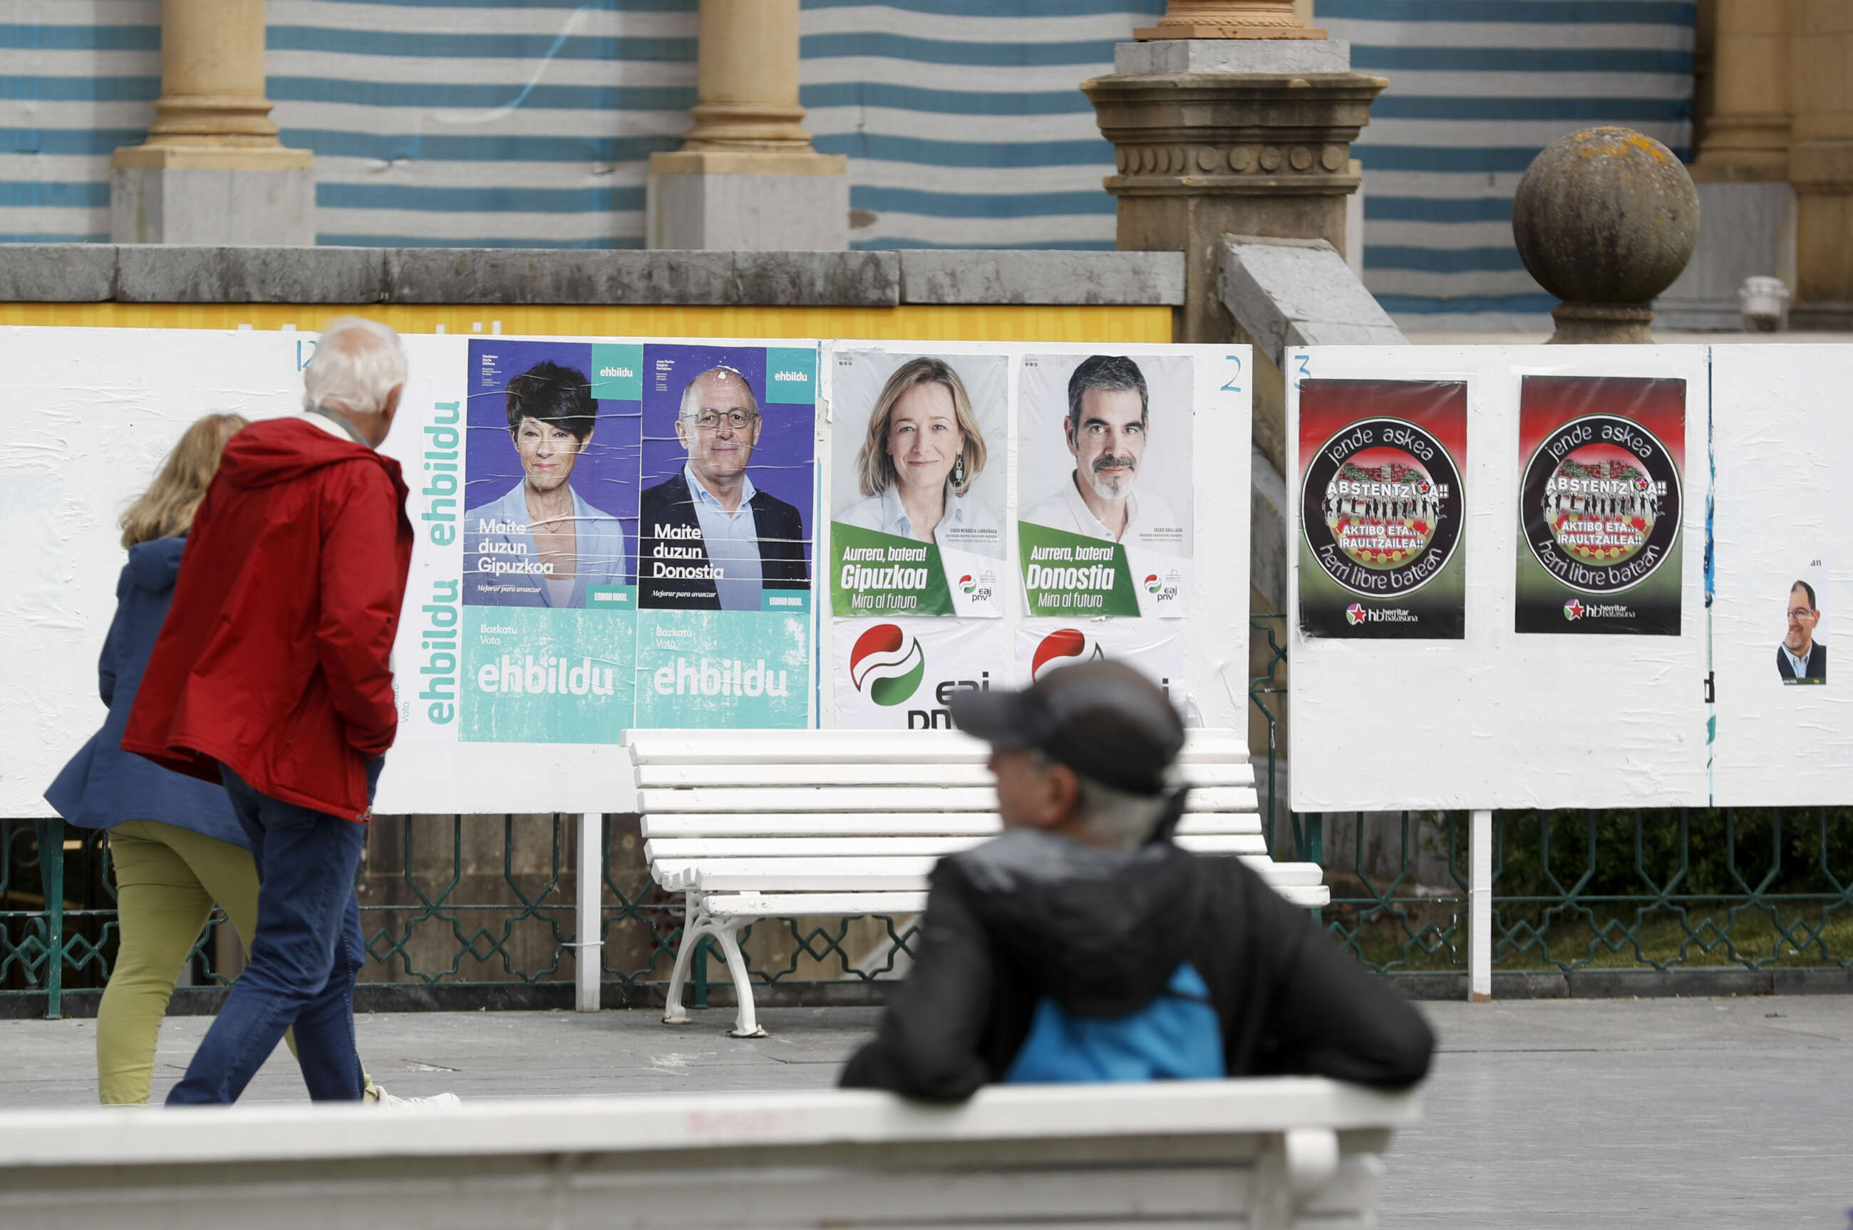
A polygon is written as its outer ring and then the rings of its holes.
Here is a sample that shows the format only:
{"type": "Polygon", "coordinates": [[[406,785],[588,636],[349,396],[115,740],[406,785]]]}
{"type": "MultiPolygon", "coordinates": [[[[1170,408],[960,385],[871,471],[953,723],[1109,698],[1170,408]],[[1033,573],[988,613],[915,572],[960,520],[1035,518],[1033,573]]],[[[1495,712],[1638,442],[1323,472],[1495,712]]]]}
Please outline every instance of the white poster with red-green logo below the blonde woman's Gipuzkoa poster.
{"type": "Polygon", "coordinates": [[[838,619],[839,730],[954,730],[952,693],[1010,687],[1010,637],[990,619],[838,619]]]}

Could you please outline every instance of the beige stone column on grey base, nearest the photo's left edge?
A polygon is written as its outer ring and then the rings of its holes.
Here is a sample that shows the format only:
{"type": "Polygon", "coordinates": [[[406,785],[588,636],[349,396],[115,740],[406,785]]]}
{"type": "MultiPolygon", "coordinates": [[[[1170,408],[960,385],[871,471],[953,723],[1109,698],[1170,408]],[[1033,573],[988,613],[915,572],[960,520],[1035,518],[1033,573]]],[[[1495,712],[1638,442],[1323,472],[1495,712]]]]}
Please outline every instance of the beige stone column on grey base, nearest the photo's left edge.
{"type": "Polygon", "coordinates": [[[315,243],[313,154],[284,148],[263,96],[263,0],[161,0],[154,109],[115,152],[115,243],[315,243]]]}

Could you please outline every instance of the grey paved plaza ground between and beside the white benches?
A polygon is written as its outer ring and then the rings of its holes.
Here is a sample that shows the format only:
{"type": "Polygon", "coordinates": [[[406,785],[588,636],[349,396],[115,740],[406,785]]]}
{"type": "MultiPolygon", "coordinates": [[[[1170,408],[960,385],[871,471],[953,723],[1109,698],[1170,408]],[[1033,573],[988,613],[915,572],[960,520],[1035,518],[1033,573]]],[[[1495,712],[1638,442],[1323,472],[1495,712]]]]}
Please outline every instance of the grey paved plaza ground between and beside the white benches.
{"type": "MultiPolygon", "coordinates": [[[[1423,1123],[1390,1154],[1382,1224],[1846,1230],[1853,997],[1423,1004],[1442,1039],[1423,1123]]],[[[359,1043],[400,1095],[467,1098],[821,1089],[875,1026],[860,1008],[371,1013],[359,1043]]],[[[209,1024],[161,1034],[156,1098],[209,1024]]],[[[0,1021],[0,1108],[95,1097],[95,1021],[0,1021]]],[[[246,1097],[302,1098],[287,1052],[246,1097]]]]}

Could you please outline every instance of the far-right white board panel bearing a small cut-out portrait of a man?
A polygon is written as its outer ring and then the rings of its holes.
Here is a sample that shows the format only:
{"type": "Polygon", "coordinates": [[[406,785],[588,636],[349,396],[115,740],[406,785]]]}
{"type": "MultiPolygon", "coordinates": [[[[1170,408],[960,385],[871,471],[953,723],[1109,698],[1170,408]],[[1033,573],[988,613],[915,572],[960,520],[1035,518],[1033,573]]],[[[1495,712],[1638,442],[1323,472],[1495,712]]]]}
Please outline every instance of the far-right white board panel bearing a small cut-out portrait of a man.
{"type": "Polygon", "coordinates": [[[1853,798],[1853,346],[1714,346],[1720,806],[1853,798]]]}

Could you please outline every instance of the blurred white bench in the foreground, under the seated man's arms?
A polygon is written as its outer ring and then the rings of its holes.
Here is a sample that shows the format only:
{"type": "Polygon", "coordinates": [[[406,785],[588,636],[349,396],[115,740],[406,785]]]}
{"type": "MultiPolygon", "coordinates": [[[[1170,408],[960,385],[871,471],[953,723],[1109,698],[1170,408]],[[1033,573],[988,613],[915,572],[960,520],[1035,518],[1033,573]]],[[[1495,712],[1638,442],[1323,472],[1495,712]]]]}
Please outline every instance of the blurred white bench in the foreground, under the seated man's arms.
{"type": "Polygon", "coordinates": [[[1412,1095],[1314,1078],[0,1113],[0,1208],[57,1230],[1377,1224],[1412,1095]]]}

